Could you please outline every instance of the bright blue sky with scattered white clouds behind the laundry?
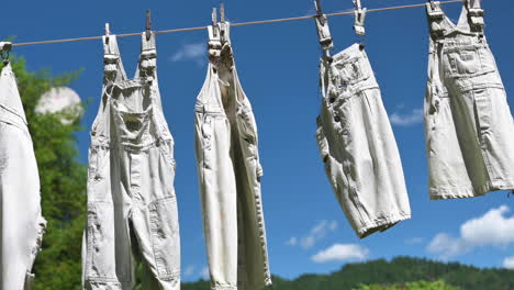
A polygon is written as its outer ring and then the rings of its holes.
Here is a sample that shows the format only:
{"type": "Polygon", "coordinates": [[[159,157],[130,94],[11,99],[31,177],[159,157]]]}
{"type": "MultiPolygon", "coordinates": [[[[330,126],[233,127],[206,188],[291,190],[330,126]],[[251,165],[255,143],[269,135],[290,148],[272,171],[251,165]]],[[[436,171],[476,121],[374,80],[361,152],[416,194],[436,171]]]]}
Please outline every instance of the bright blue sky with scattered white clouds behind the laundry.
{"type": "MultiPolygon", "coordinates": [[[[422,0],[364,0],[368,8],[420,3],[422,0]]],[[[487,35],[496,57],[509,101],[514,103],[512,15],[505,0],[484,0],[487,35]]],[[[350,0],[322,2],[326,12],[351,9],[350,0]]],[[[0,38],[16,42],[101,35],[144,30],[152,9],[155,30],[208,25],[219,1],[7,1],[0,38]]],[[[230,21],[305,15],[312,1],[225,1],[230,21]]],[[[460,4],[444,9],[456,20],[460,4]]],[[[232,42],[243,87],[258,123],[265,170],[262,197],[273,274],[294,278],[329,272],[348,261],[411,255],[458,260],[480,267],[514,267],[514,198],[494,192],[468,200],[429,201],[421,108],[425,92],[428,34],[424,9],[370,13],[367,52],[382,89],[386,109],[402,156],[413,217],[359,241],[336,202],[315,142],[320,108],[317,63],[321,54],[313,20],[234,27],[232,42]]],[[[331,18],[336,51],[356,41],[353,16],[331,18]]],[[[182,241],[182,278],[205,274],[197,168],[193,107],[205,77],[206,31],[157,36],[159,86],[165,115],[175,136],[176,191],[182,241]]],[[[121,38],[122,58],[135,71],[139,37],[121,38]]],[[[32,70],[54,74],[83,68],[71,83],[91,98],[77,134],[87,161],[88,130],[97,113],[102,80],[100,41],[15,47],[32,70]]],[[[513,132],[514,133],[514,132],[513,132]]],[[[514,146],[514,144],[513,144],[514,146]]]]}

